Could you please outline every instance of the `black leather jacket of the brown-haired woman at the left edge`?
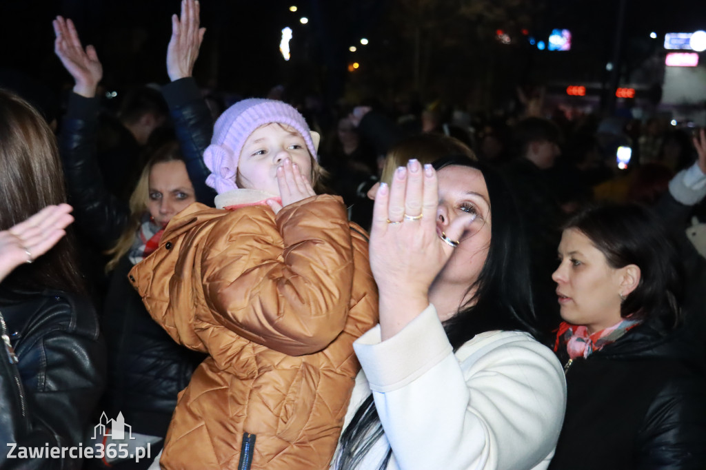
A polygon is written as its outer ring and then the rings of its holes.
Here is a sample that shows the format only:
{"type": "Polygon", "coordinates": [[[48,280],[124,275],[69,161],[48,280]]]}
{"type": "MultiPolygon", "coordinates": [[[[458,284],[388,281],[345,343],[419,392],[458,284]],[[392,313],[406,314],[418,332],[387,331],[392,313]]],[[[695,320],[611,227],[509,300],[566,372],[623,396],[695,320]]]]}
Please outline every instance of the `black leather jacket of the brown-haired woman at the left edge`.
{"type": "Polygon", "coordinates": [[[83,441],[106,370],[95,311],[66,292],[3,292],[0,329],[11,343],[0,344],[0,468],[80,469],[68,457],[8,458],[8,443],[18,455],[20,447],[83,441]]]}

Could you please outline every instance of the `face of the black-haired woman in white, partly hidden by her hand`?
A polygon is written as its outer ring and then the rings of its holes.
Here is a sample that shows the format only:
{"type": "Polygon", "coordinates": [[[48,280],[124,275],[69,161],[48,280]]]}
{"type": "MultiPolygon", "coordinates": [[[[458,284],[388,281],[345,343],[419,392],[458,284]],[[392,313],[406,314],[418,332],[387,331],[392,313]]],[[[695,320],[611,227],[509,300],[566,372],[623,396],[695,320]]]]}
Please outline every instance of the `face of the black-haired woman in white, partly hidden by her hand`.
{"type": "MultiPolygon", "coordinates": [[[[491,212],[488,188],[483,174],[477,169],[451,165],[437,172],[439,205],[436,230],[441,232],[456,217],[474,214],[476,218],[460,237],[460,245],[434,280],[466,288],[476,282],[485,264],[491,238],[491,212]]],[[[435,287],[434,285],[432,288],[435,287]]],[[[442,318],[445,320],[445,318],[442,318]]]]}

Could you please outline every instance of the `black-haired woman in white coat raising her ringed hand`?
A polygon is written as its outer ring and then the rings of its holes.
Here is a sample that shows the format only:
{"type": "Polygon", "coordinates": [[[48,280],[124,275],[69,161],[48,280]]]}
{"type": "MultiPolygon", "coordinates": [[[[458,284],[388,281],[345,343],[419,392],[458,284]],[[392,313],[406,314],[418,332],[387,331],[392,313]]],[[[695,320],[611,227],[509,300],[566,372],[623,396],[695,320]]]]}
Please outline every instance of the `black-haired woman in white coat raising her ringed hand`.
{"type": "Polygon", "coordinates": [[[527,253],[496,171],[410,160],[376,195],[371,267],[380,324],[336,469],[545,469],[566,397],[533,335],[527,253]],[[437,183],[438,181],[438,183],[437,183]]]}

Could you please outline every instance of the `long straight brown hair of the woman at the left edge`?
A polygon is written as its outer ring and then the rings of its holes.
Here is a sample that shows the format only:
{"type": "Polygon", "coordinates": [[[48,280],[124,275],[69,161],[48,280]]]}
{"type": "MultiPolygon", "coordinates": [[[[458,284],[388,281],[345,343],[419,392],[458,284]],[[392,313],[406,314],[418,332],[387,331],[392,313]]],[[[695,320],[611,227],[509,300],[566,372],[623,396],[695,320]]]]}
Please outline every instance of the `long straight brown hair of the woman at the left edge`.
{"type": "MultiPolygon", "coordinates": [[[[6,90],[0,90],[0,200],[0,230],[47,205],[66,203],[64,173],[52,130],[28,102],[6,90]]],[[[69,229],[45,255],[14,270],[4,286],[84,294],[72,238],[69,229]]]]}

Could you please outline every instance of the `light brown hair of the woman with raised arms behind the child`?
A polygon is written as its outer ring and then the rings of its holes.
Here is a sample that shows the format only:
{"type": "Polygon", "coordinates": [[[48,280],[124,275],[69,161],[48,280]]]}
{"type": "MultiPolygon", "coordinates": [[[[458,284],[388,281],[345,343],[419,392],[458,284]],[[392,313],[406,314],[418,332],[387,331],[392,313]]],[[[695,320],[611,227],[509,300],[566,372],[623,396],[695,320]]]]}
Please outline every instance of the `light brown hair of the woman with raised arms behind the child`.
{"type": "Polygon", "coordinates": [[[135,185],[133,193],[130,195],[130,220],[128,221],[123,234],[116,241],[115,246],[106,252],[110,255],[110,260],[105,266],[106,272],[112,271],[119,263],[120,259],[130,251],[135,241],[135,233],[140,227],[143,215],[148,212],[147,201],[150,197],[150,171],[157,163],[183,162],[184,157],[179,150],[177,141],[169,141],[159,147],[155,154],[148,160],[140,173],[140,178],[135,185]]]}

